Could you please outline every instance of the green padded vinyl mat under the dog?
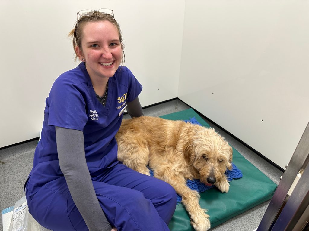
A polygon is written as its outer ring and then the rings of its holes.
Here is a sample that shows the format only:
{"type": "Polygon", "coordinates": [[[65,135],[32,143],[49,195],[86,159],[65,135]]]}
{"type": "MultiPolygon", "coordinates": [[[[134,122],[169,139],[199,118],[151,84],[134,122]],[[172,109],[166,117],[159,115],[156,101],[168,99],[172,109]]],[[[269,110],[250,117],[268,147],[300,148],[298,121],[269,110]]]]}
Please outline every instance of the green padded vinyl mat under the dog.
{"type": "MultiPolygon", "coordinates": [[[[201,125],[210,127],[192,108],[160,117],[168,120],[189,120],[195,117],[201,125]]],[[[200,205],[208,210],[212,228],[268,201],[277,188],[272,180],[234,148],[232,162],[242,171],[243,178],[233,179],[230,182],[228,193],[221,193],[217,188],[211,188],[201,193],[200,205]]],[[[168,227],[171,231],[194,231],[190,225],[188,213],[182,204],[176,206],[176,211],[168,227]]]]}

